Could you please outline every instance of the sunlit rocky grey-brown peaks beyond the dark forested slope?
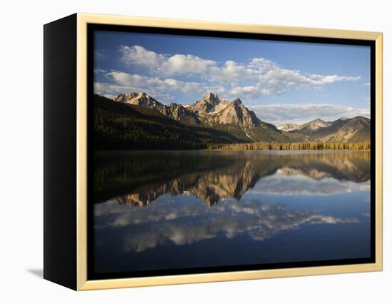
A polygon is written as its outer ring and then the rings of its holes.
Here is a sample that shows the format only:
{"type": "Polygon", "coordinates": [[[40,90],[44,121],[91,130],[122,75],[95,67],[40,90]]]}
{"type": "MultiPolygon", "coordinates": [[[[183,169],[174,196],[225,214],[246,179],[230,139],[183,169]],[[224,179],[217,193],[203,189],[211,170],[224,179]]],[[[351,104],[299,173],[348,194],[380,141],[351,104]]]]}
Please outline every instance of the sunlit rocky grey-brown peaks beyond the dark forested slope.
{"type": "Polygon", "coordinates": [[[339,118],[336,121],[317,118],[302,125],[286,123],[282,128],[277,128],[257,118],[240,98],[230,102],[212,92],[185,106],[179,103],[164,105],[144,92],[120,94],[114,101],[153,108],[175,121],[229,131],[238,138],[250,141],[351,141],[358,137],[355,135],[362,129],[359,137],[366,138],[363,135],[368,133],[370,138],[370,120],[365,117],[339,118]]]}

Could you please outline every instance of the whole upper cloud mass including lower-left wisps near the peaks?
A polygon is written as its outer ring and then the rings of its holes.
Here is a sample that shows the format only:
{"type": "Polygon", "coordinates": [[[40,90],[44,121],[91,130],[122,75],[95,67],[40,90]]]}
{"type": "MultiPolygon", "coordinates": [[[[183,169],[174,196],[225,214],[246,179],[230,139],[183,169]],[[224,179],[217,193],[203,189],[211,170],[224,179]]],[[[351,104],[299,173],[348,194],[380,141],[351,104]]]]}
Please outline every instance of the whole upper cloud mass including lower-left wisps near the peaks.
{"type": "Polygon", "coordinates": [[[361,78],[336,74],[308,75],[301,71],[284,69],[276,62],[263,57],[252,58],[245,63],[227,60],[218,64],[217,61],[192,54],[158,54],[137,45],[120,46],[120,53],[120,60],[128,67],[143,69],[145,74],[142,76],[112,71],[107,75],[111,76],[117,85],[148,88],[146,91],[149,93],[151,89],[162,93],[172,91],[175,87],[185,93],[195,90],[205,93],[208,87],[217,88],[224,96],[254,100],[263,95],[280,95],[291,90],[319,88],[339,81],[357,81],[361,78]],[[184,76],[189,78],[190,75],[197,78],[198,85],[195,85],[194,81],[185,81],[184,76]],[[175,80],[180,76],[181,81],[175,80]],[[155,88],[157,84],[159,90],[155,88]],[[200,84],[204,86],[204,90],[200,88],[200,84]]]}

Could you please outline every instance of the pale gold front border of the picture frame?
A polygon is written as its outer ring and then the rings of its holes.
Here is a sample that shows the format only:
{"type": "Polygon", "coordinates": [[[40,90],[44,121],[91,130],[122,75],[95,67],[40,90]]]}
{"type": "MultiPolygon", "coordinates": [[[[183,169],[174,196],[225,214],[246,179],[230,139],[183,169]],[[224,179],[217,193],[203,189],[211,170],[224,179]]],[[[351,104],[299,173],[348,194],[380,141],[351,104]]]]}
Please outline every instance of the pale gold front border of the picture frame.
{"type": "Polygon", "coordinates": [[[383,269],[382,231],[382,132],[383,132],[383,35],[370,31],[346,31],[336,29],[311,29],[289,26],[264,26],[258,24],[232,24],[181,19],[160,19],[100,14],[76,14],[76,290],[105,288],[129,288],[153,285],[207,283],[228,280],[253,280],[303,275],[327,275],[335,273],[358,273],[383,269]],[[374,41],[376,45],[376,206],[375,206],[375,263],[354,265],[326,265],[303,268],[269,270],[246,270],[226,273],[198,273],[187,275],[163,275],[143,278],[116,278],[88,280],[87,276],[87,98],[88,98],[88,24],[116,26],[148,26],[169,29],[192,29],[203,31],[229,31],[236,33],[292,35],[334,39],[361,39],[374,41]]]}

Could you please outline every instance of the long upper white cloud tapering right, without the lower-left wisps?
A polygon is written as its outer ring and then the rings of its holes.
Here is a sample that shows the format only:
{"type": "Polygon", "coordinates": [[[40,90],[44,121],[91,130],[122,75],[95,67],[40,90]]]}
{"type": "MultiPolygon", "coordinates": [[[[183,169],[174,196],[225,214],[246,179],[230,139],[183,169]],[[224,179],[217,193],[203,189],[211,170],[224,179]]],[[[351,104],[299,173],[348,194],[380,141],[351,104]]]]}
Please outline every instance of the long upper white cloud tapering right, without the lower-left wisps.
{"type": "Polygon", "coordinates": [[[232,60],[218,66],[216,61],[190,54],[168,56],[149,51],[143,46],[121,46],[122,60],[127,64],[146,66],[151,73],[161,76],[202,74],[210,82],[226,83],[249,81],[260,94],[284,93],[289,89],[324,86],[338,81],[357,81],[360,76],[301,74],[300,71],[282,69],[277,63],[265,58],[253,58],[247,64],[232,60]]]}

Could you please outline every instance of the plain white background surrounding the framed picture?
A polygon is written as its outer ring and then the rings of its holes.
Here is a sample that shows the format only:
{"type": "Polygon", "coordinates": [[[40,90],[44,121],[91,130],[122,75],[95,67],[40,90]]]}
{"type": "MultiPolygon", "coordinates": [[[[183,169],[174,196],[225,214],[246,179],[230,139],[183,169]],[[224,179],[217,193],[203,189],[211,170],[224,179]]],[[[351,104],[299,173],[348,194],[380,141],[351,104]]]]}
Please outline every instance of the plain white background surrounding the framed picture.
{"type": "Polygon", "coordinates": [[[392,303],[389,1],[1,1],[0,302],[392,303]],[[76,11],[384,33],[384,271],[76,293],[41,279],[43,24],[76,11]],[[389,172],[388,172],[389,168],[389,172]]]}

